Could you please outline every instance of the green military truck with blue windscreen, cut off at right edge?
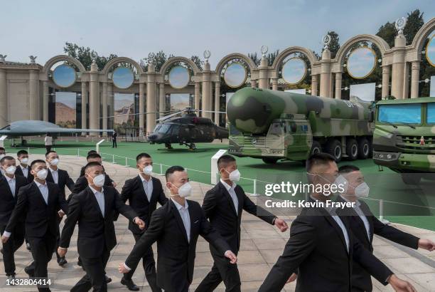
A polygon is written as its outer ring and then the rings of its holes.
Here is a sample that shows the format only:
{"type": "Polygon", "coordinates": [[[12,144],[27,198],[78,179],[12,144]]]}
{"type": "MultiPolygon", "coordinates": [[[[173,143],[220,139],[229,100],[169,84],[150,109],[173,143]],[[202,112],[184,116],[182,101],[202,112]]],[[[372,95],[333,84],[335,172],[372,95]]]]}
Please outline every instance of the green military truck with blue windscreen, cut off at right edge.
{"type": "Polygon", "coordinates": [[[402,173],[407,184],[435,172],[435,98],[376,103],[373,160],[402,173]]]}

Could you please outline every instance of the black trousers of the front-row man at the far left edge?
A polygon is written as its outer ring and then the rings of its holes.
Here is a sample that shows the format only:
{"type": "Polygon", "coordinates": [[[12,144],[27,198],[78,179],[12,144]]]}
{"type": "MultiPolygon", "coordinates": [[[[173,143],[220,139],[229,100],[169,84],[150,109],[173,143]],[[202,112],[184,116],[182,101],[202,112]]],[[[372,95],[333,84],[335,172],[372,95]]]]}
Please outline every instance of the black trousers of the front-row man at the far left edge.
{"type": "MultiPolygon", "coordinates": [[[[0,233],[3,234],[6,225],[0,225],[0,233]]],[[[11,237],[3,244],[3,264],[6,276],[15,275],[15,252],[24,242],[24,224],[17,224],[11,232],[11,237]]]]}

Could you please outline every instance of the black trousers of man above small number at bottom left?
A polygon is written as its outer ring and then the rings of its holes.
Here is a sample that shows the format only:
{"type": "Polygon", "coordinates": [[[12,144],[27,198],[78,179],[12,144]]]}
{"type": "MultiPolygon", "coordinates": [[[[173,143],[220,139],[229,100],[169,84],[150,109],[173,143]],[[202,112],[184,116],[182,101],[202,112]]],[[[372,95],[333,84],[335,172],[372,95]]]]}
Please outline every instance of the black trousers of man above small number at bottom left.
{"type": "MultiPolygon", "coordinates": [[[[51,260],[56,246],[56,234],[47,231],[43,237],[28,236],[28,241],[31,244],[33,256],[33,263],[28,266],[28,271],[33,273],[36,278],[47,278],[48,262],[51,260]]],[[[38,287],[38,291],[50,291],[50,289],[38,287]]]]}

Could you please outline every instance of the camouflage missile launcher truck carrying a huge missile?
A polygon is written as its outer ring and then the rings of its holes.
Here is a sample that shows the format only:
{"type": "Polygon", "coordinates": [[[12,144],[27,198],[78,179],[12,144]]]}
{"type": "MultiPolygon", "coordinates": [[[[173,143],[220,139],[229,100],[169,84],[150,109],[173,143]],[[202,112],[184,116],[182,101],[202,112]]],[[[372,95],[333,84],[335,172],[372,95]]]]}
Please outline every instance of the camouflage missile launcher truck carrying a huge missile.
{"type": "Polygon", "coordinates": [[[372,155],[370,103],[242,88],[227,103],[228,152],[238,157],[304,161],[328,152],[340,161],[372,155]]]}

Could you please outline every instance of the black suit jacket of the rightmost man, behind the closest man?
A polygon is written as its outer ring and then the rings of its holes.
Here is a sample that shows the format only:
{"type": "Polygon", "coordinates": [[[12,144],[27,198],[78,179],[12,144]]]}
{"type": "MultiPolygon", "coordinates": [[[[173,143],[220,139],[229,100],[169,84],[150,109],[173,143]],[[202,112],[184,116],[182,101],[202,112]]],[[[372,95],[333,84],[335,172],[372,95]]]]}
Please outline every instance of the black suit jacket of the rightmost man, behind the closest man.
{"type": "MultiPolygon", "coordinates": [[[[342,197],[338,197],[338,201],[345,202],[342,197]]],[[[418,237],[413,236],[412,234],[407,234],[392,226],[383,224],[372,214],[370,208],[364,201],[359,200],[358,202],[360,202],[360,209],[365,214],[365,217],[369,223],[370,238],[367,236],[367,229],[365,229],[363,219],[360,218],[353,208],[342,209],[340,212],[338,212],[338,214],[341,213],[343,216],[348,217],[350,229],[352,229],[353,234],[356,238],[358,238],[361,244],[363,244],[365,249],[373,252],[372,242],[374,234],[385,237],[386,239],[390,239],[397,244],[402,244],[412,249],[418,249],[418,237]]],[[[363,291],[372,291],[372,278],[370,277],[370,273],[365,271],[365,269],[355,261],[353,263],[352,271],[352,286],[353,288],[358,288],[363,291]]]]}

